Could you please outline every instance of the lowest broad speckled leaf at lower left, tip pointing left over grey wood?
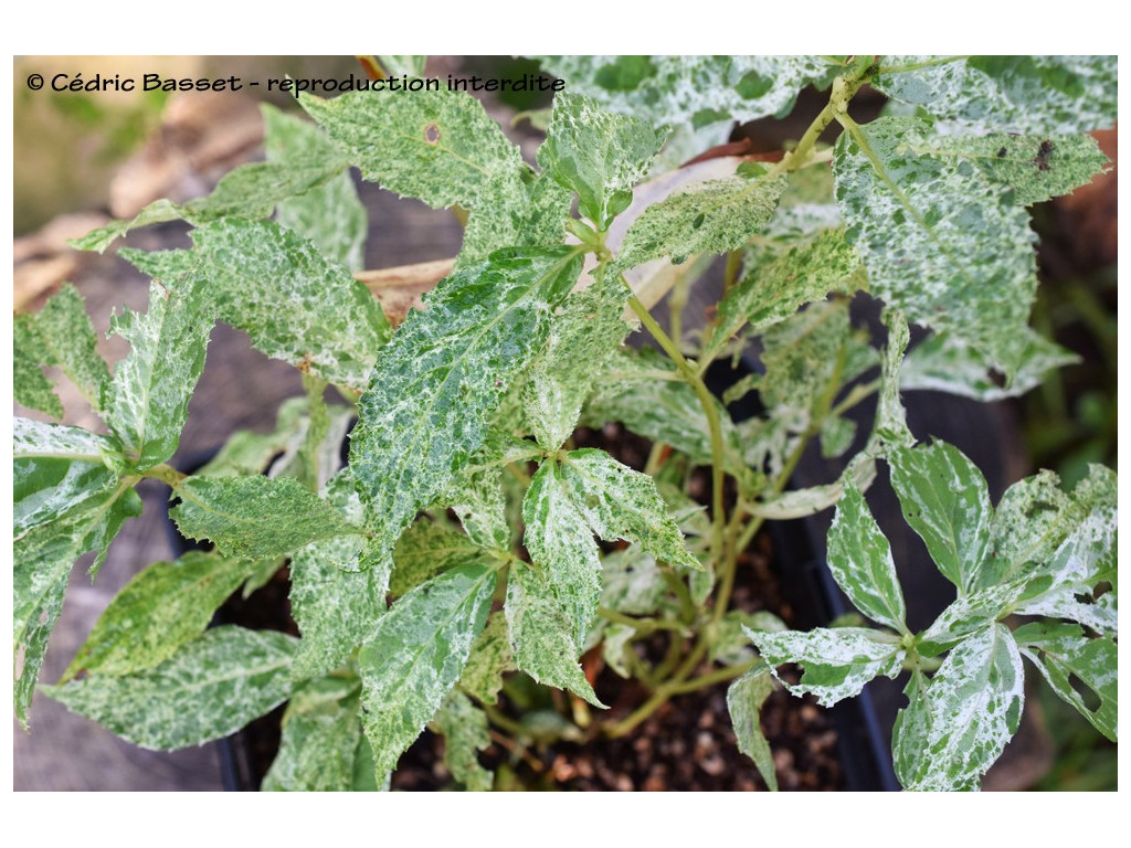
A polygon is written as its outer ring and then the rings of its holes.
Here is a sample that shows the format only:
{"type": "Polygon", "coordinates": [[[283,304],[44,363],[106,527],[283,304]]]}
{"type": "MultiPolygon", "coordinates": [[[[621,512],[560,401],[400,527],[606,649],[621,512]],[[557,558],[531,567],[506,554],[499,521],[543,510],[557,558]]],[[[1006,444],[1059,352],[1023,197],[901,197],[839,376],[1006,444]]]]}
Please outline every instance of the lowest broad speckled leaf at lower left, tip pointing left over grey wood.
{"type": "Polygon", "coordinates": [[[172,751],[227,736],[283,703],[296,646],[285,633],[225,625],[154,668],[41,689],[127,742],[172,751]]]}

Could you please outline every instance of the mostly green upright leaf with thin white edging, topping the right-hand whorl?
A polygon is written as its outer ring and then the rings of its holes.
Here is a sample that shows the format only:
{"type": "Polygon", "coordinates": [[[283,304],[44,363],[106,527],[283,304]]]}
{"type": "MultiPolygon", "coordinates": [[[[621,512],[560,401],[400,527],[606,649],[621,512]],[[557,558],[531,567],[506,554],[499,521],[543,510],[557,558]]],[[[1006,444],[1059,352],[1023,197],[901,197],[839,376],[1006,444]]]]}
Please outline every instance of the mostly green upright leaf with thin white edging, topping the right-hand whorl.
{"type": "Polygon", "coordinates": [[[926,543],[942,576],[965,594],[986,556],[993,519],[982,471],[941,441],[893,447],[888,461],[904,519],[926,543]]]}

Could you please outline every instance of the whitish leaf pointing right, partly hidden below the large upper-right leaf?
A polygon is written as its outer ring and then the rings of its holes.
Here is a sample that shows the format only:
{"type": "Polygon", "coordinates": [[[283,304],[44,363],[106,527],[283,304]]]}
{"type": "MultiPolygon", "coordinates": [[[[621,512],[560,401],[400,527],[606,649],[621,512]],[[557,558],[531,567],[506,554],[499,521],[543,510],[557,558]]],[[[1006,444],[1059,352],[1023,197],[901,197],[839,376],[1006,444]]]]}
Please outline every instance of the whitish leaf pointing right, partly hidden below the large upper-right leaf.
{"type": "Polygon", "coordinates": [[[1002,387],[994,380],[993,363],[969,341],[950,334],[932,334],[907,354],[899,372],[904,391],[927,389],[975,400],[1017,397],[1045,381],[1048,372],[1080,362],[1080,357],[1026,327],[1021,364],[1013,381],[1002,387]]]}

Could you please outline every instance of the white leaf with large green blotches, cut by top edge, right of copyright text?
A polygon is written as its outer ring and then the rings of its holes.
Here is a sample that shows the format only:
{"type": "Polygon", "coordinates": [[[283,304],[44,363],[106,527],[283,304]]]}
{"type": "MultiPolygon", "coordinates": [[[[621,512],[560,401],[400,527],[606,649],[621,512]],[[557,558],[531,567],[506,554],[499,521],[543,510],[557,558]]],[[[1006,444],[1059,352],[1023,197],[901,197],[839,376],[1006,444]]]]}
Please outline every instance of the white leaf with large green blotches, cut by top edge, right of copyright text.
{"type": "Polygon", "coordinates": [[[655,124],[753,121],[789,112],[837,66],[804,55],[556,55],[543,67],[570,92],[655,124]]]}

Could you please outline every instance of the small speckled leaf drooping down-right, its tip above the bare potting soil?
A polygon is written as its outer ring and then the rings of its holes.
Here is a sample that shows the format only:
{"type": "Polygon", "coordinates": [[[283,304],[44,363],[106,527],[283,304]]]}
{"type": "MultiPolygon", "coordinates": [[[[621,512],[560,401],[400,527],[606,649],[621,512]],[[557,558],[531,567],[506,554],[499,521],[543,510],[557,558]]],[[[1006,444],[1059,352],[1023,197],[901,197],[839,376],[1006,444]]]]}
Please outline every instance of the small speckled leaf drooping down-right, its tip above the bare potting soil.
{"type": "Polygon", "coordinates": [[[512,568],[507,583],[506,612],[515,665],[519,670],[547,686],[569,690],[595,707],[604,707],[577,663],[580,647],[571,635],[572,623],[549,580],[533,569],[512,568]]]}

